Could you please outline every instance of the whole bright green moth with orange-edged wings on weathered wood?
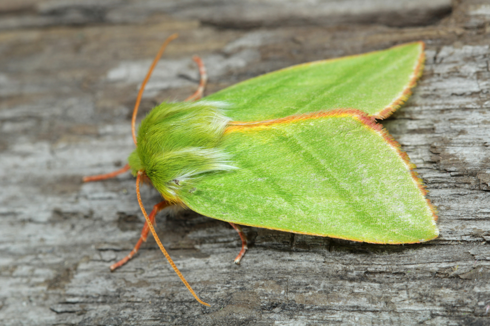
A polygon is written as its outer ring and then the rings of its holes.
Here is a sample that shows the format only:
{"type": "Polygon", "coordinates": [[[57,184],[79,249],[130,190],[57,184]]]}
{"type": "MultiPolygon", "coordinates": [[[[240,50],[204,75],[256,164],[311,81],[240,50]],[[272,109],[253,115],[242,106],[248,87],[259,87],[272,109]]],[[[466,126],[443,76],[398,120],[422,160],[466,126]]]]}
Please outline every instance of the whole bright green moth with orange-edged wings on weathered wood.
{"type": "MultiPolygon", "coordinates": [[[[371,243],[434,239],[437,216],[415,166],[375,122],[410,96],[423,50],[407,43],[295,65],[196,102],[162,103],[128,159],[137,188],[146,176],[167,204],[232,225],[371,243]]],[[[167,204],[150,217],[143,209],[154,236],[167,204]]]]}

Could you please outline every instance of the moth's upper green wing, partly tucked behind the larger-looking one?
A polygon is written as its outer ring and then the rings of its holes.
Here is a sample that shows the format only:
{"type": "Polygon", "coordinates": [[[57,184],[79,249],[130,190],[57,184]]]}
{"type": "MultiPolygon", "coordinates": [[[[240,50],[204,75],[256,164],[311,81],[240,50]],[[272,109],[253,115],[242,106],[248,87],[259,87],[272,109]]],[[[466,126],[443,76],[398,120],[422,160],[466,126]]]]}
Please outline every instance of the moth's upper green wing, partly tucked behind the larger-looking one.
{"type": "Polygon", "coordinates": [[[207,96],[230,103],[233,120],[257,121],[355,108],[386,118],[410,95],[423,65],[422,42],[322,60],[258,76],[207,96]]]}

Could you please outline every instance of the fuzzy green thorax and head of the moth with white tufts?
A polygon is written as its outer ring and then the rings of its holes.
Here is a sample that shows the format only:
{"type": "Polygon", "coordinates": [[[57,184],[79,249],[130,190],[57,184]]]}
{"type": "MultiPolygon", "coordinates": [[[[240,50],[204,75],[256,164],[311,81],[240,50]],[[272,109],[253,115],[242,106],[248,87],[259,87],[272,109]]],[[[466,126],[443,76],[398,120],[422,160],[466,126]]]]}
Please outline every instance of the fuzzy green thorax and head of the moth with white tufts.
{"type": "Polygon", "coordinates": [[[136,150],[129,155],[131,172],[144,171],[169,201],[192,191],[204,173],[231,171],[230,155],[217,149],[231,119],[217,102],[162,103],[152,109],[138,129],[136,150]]]}

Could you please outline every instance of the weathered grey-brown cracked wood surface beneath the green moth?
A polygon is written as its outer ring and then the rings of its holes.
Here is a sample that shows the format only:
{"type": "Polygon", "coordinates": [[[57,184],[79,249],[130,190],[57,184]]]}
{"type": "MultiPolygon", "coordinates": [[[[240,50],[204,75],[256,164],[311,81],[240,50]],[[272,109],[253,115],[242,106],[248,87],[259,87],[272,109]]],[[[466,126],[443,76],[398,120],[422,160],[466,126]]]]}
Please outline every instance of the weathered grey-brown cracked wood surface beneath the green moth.
{"type": "MultiPolygon", "coordinates": [[[[489,325],[490,4],[408,2],[2,0],[0,324],[489,325]],[[417,164],[440,237],[373,245],[245,228],[252,245],[237,266],[229,225],[163,212],[164,245],[212,307],[196,303],[152,239],[111,273],[143,226],[134,179],[80,178],[124,163],[137,86],[172,32],[181,36],[142,113],[195,89],[193,54],[210,93],[424,40],[415,95],[383,124],[417,164]]],[[[143,198],[159,201],[148,188],[143,198]]]]}

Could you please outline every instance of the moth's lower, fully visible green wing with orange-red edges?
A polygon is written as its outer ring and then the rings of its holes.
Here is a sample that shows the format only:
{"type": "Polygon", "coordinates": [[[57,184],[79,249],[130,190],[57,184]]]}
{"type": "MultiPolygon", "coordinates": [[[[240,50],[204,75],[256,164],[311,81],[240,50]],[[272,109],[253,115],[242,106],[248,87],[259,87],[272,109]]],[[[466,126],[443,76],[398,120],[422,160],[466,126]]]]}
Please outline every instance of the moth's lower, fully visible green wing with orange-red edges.
{"type": "Polygon", "coordinates": [[[226,134],[231,173],[208,174],[183,196],[208,217],[374,243],[437,237],[434,212],[393,141],[352,116],[226,134]]]}

